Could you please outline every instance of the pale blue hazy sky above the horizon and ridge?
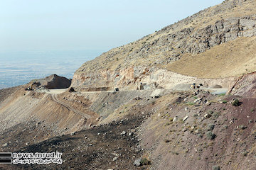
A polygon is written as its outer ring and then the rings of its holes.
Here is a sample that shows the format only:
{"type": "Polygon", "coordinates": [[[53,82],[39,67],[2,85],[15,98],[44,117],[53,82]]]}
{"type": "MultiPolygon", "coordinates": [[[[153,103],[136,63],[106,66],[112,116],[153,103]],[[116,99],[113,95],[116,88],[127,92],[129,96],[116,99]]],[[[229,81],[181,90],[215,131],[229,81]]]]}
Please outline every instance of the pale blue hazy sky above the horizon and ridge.
{"type": "Polygon", "coordinates": [[[0,0],[0,52],[109,50],[223,0],[0,0]]]}

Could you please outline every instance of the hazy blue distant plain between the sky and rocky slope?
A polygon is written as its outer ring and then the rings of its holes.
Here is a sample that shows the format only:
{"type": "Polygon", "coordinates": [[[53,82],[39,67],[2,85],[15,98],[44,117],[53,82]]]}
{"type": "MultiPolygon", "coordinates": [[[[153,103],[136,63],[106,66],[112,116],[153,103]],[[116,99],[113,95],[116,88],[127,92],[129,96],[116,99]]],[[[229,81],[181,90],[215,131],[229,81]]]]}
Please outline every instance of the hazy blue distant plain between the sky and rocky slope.
{"type": "Polygon", "coordinates": [[[102,50],[0,52],[0,89],[58,74],[68,79],[102,50]]]}

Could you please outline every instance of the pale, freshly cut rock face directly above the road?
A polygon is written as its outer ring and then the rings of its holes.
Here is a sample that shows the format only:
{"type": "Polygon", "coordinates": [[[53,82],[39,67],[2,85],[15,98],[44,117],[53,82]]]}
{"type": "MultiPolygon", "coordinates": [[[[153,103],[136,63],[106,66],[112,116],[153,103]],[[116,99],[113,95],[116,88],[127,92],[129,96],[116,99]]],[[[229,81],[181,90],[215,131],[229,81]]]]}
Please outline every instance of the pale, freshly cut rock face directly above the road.
{"type": "Polygon", "coordinates": [[[73,85],[80,91],[112,90],[116,87],[122,90],[136,89],[175,89],[186,84],[216,84],[224,88],[230,88],[235,82],[235,77],[223,79],[198,79],[189,77],[166,69],[156,67],[129,67],[116,71],[107,70],[91,74],[75,74],[73,85]]]}

